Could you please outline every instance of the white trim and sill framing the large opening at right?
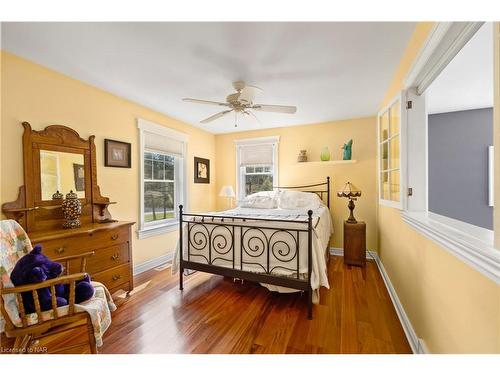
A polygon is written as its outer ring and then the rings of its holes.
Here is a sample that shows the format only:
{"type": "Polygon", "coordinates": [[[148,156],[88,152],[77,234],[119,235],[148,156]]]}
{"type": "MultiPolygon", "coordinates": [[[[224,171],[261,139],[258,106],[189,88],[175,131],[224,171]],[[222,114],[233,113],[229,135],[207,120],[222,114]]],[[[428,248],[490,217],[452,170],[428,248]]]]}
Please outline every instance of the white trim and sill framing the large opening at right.
{"type": "Polygon", "coordinates": [[[425,90],[482,26],[482,22],[439,22],[405,79],[406,181],[413,195],[401,212],[404,222],[481,274],[500,284],[500,251],[494,232],[428,210],[428,114],[425,90]]]}

